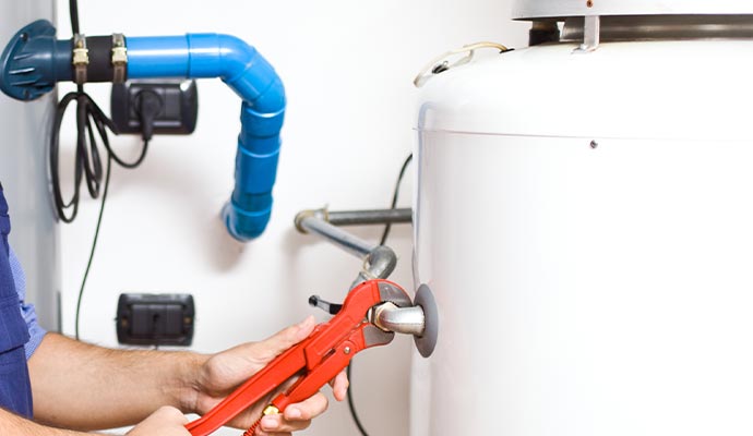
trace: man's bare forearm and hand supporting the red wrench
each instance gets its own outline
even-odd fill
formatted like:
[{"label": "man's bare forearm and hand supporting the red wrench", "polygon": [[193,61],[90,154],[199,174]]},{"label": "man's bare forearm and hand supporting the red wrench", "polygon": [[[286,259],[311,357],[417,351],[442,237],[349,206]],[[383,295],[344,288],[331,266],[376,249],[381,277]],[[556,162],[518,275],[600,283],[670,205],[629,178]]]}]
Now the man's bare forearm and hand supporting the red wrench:
[{"label": "man's bare forearm and hand supporting the red wrench", "polygon": [[[177,425],[175,410],[153,412],[162,405],[172,405],[184,413],[208,412],[275,356],[306,339],[313,328],[314,320],[310,317],[265,341],[238,346],[215,355],[107,350],[48,334],[29,360],[34,419],[40,424],[77,431],[141,423],[133,429],[141,433],[132,436],[187,435],[180,428],[184,420]],[[348,386],[345,374],[339,374],[332,385],[335,398],[343,400]],[[276,393],[262,399],[230,424],[250,427]],[[71,398],[76,401],[70,401]],[[290,404],[282,415],[265,416],[260,429],[265,434],[289,434],[308,427],[311,419],[326,408],[326,398],[318,393]],[[97,413],[92,413],[93,410]],[[171,416],[176,420],[170,420]],[[178,433],[147,431],[152,425],[162,425],[164,419],[167,428]]]}]

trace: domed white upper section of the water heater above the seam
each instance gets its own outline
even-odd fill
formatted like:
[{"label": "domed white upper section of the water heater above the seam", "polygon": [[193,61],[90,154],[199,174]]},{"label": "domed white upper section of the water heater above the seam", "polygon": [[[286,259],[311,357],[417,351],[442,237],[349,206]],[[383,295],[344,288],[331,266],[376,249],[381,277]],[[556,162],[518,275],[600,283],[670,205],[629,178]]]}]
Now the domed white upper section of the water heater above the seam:
[{"label": "domed white upper section of the water heater above the seam", "polygon": [[588,53],[577,48],[525,48],[432,76],[419,94],[417,129],[554,137],[753,137],[753,86],[744,86],[753,76],[753,40],[606,43]]}]

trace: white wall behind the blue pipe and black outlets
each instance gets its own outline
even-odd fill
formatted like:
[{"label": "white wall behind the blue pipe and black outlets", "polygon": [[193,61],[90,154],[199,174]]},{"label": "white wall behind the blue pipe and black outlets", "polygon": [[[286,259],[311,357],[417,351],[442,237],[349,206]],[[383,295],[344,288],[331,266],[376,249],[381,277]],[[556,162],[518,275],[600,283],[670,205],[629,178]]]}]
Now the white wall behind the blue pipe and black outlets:
[{"label": "white wall behind the blue pipe and black outlets", "polygon": [[[58,3],[59,35],[68,36],[68,1]],[[204,352],[261,339],[314,313],[307,305],[311,293],[344,298],[360,263],[298,234],[296,213],[326,204],[387,206],[399,165],[414,146],[414,75],[434,56],[464,44],[523,46],[527,28],[510,21],[509,0],[80,0],[80,14],[88,35],[232,34],[254,45],[285,82],[289,106],[275,206],[259,240],[237,243],[218,219],[232,189],[240,107],[219,81],[199,85],[192,136],[156,137],[143,167],[118,168],[112,177],[82,307],[83,338],[117,344],[113,316],[121,292],[190,292],[198,305],[194,349]],[[108,106],[108,86],[89,90]],[[69,117],[68,138],[72,121]],[[133,138],[116,144],[125,152],[138,148]],[[409,206],[410,174],[403,190],[401,205]],[[82,202],[80,218],[62,228],[69,334],[97,206]],[[369,239],[380,232],[358,230]],[[392,278],[413,292],[409,228],[394,229],[390,244],[399,255]],[[411,347],[411,339],[402,337],[356,359],[355,398],[372,435],[408,433]],[[307,434],[352,435],[356,428],[347,405],[333,404]]]}]

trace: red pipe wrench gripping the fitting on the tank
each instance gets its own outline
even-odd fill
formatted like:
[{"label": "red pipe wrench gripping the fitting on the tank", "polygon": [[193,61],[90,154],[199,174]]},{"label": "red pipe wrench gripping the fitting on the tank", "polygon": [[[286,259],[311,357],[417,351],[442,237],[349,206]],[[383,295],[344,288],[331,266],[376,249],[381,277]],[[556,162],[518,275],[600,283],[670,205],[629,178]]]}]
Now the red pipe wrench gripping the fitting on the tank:
[{"label": "red pipe wrench gripping the fitting on the tank", "polygon": [[[368,280],[354,288],[337,315],[318,325],[308,338],[275,358],[204,416],[186,424],[186,428],[193,436],[207,436],[296,374],[301,375],[272,400],[264,414],[282,413],[288,404],[316,393],[356,353],[392,342],[394,332],[369,320],[372,308],[387,302],[398,307],[413,305],[405,290],[387,280]],[[247,434],[253,434],[258,424],[259,421]]]}]

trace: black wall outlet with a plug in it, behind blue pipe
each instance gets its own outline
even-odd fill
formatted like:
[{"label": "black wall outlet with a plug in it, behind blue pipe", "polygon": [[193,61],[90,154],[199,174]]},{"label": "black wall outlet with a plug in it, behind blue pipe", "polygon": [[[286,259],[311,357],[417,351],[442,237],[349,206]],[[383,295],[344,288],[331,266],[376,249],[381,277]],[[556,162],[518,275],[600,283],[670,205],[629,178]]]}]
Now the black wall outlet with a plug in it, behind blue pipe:
[{"label": "black wall outlet with a plug in it, behind blue pipe", "polygon": [[193,133],[199,117],[199,93],[196,82],[189,80],[143,80],[112,85],[110,111],[118,133],[142,133],[139,112],[144,93],[154,93],[160,102],[152,123],[155,134]]}]

